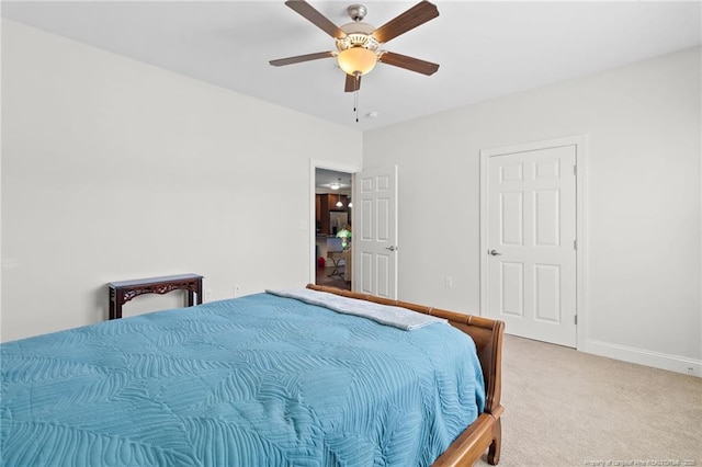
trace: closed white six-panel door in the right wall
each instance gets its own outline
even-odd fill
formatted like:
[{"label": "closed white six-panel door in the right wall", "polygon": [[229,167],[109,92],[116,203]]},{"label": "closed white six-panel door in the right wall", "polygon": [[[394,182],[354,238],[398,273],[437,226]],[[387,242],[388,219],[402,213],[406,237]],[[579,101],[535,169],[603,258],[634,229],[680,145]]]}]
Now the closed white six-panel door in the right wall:
[{"label": "closed white six-panel door in the right wall", "polygon": [[510,334],[575,348],[576,146],[486,159],[487,315]]}]

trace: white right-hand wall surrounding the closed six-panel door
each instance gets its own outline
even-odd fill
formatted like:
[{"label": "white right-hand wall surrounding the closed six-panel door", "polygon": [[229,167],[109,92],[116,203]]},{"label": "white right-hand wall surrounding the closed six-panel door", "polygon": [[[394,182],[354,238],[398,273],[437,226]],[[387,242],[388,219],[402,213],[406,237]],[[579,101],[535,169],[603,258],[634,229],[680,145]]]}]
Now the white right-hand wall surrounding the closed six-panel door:
[{"label": "white right-hand wall surrounding the closed six-panel door", "polygon": [[479,150],[586,134],[588,342],[579,348],[699,375],[700,55],[366,132],[364,167],[399,166],[400,298],[479,312]]}]

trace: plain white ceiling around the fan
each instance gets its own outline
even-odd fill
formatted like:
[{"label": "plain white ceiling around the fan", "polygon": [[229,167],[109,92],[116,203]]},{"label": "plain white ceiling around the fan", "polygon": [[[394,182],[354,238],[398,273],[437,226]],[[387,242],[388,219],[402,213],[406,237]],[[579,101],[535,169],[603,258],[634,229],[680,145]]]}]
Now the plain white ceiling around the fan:
[{"label": "plain white ceiling around the fan", "polygon": [[[380,26],[417,1],[365,1]],[[309,3],[337,25],[351,1]],[[380,64],[363,77],[360,122],[321,30],[280,1],[2,1],[2,16],[366,130],[702,43],[700,1],[435,1],[440,16],[382,48],[441,65],[426,77]],[[376,118],[367,116],[377,112]]]}]

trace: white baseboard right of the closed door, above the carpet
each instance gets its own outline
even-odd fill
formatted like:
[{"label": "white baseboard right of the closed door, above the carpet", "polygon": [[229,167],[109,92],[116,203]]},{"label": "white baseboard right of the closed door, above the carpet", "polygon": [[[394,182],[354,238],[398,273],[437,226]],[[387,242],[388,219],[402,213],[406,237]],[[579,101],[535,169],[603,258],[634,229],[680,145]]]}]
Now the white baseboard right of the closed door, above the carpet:
[{"label": "white baseboard right of the closed door, above the carpet", "polygon": [[702,377],[702,360],[588,340],[585,352],[654,368]]}]

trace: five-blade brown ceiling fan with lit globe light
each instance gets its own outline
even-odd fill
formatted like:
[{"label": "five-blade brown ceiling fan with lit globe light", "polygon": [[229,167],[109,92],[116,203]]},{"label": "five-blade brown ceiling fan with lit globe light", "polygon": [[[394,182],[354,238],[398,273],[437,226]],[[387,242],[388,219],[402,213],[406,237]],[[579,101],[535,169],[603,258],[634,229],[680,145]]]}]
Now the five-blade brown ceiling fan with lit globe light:
[{"label": "five-blade brown ceiling fan with lit globe light", "polygon": [[271,60],[270,64],[274,67],[337,57],[339,67],[347,73],[346,92],[358,91],[361,88],[361,76],[371,71],[378,61],[428,76],[439,69],[439,65],[431,61],[380,49],[382,44],[439,16],[437,5],[427,0],[377,29],[363,22],[367,9],[362,4],[352,4],[347,9],[353,22],[342,26],[333,24],[305,0],[287,0],[285,4],[333,37],[337,50]]}]

